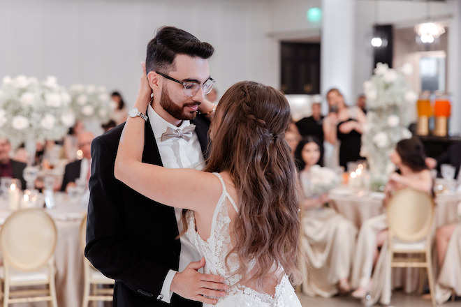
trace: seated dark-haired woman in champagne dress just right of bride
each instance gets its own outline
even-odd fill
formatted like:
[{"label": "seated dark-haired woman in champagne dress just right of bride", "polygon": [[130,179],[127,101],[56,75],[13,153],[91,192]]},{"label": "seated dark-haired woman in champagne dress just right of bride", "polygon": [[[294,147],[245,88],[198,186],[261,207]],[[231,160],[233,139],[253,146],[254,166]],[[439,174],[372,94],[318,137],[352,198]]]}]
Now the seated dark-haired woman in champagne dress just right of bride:
[{"label": "seated dark-haired woman in champagne dress just right of bride", "polygon": [[295,151],[304,197],[300,197],[302,225],[301,249],[302,292],[315,297],[332,297],[349,292],[349,274],[357,229],[351,221],[334,209],[324,207],[328,195],[312,195],[309,191],[310,169],[321,158],[320,141],[314,136],[302,139]]}]

